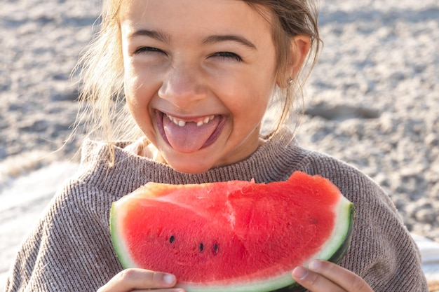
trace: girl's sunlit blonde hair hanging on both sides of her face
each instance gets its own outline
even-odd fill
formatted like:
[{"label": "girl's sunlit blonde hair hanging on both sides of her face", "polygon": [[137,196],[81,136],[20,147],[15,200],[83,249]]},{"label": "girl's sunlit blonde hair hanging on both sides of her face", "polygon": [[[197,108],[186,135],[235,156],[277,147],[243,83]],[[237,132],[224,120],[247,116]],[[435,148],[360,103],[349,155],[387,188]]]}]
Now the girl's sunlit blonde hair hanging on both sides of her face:
[{"label": "girl's sunlit blonde hair hanging on both sides of her face", "polygon": [[[311,0],[242,1],[261,15],[264,15],[264,11],[272,13],[271,26],[277,50],[278,76],[288,79],[285,75],[286,69],[294,57],[290,53],[292,37],[305,35],[311,38],[311,50],[306,57],[306,65],[302,66],[297,76],[290,76],[292,82],[285,88],[276,89],[271,101],[275,105],[275,116],[278,117],[276,122],[269,122],[275,125],[268,130],[268,137],[272,137],[283,124],[288,123],[292,117],[297,117],[294,114],[296,97],[303,96],[304,83],[316,64],[320,51],[318,9]],[[123,0],[103,0],[100,30],[76,67],[81,85],[80,111],[76,126],[85,124],[88,137],[104,139],[109,144],[137,139],[142,135],[123,97],[123,55],[119,19],[122,3]],[[278,111],[281,111],[281,115]],[[269,114],[266,116],[273,117]],[[109,155],[114,162],[114,151],[110,151]]]}]

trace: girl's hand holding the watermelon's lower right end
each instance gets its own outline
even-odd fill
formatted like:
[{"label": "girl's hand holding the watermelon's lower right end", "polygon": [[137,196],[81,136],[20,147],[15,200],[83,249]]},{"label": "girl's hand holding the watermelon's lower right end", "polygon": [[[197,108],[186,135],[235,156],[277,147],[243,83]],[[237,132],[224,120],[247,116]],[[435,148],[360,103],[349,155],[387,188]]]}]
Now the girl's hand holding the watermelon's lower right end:
[{"label": "girl's hand holding the watermelon's lower right end", "polygon": [[325,260],[313,260],[308,269],[296,267],[292,277],[313,292],[373,292],[360,276]]}]

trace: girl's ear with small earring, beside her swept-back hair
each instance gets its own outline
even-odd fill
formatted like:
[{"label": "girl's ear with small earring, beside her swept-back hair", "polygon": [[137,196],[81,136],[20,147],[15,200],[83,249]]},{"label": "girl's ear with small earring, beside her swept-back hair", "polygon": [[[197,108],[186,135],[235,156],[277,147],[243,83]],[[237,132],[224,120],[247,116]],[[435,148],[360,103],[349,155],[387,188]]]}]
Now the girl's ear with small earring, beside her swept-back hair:
[{"label": "girl's ear with small earring, beside her swept-back hair", "polygon": [[288,79],[295,79],[300,68],[304,64],[306,55],[311,48],[311,38],[309,36],[298,35],[291,39],[290,43],[290,64],[285,68],[286,76],[279,76],[282,80],[278,80],[278,85],[282,88],[288,86]]}]

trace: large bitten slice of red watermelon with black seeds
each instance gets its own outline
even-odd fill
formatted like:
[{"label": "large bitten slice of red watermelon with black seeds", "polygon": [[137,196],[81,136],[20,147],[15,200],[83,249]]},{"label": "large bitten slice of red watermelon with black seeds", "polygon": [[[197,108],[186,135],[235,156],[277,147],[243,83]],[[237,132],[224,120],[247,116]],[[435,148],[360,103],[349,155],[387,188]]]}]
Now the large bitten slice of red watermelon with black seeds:
[{"label": "large bitten slice of red watermelon with black seeds", "polygon": [[319,258],[339,263],[354,208],[321,176],[192,185],[147,183],[112,205],[123,267],[170,272],[197,291],[302,291],[291,276]]}]

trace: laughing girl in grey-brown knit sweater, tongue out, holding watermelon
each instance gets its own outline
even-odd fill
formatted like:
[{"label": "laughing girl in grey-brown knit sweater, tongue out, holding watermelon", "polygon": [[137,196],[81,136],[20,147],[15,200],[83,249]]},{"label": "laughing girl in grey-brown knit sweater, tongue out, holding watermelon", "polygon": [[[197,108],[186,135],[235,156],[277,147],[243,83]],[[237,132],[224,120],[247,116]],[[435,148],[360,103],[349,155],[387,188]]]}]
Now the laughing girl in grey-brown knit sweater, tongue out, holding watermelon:
[{"label": "laughing girl in grey-brown knit sweater, tongue out, holding watermelon", "polygon": [[[300,148],[281,126],[306,63],[316,62],[316,15],[309,0],[104,1],[82,80],[91,122],[100,123],[93,130],[106,139],[83,145],[79,172],[23,244],[7,291],[181,291],[172,274],[122,270],[109,237],[111,203],[148,181],[269,182],[296,170],[327,177],[357,209],[341,265],[296,267],[299,284],[313,292],[426,291],[417,249],[383,190]],[[265,113],[278,105],[264,136]]]}]

